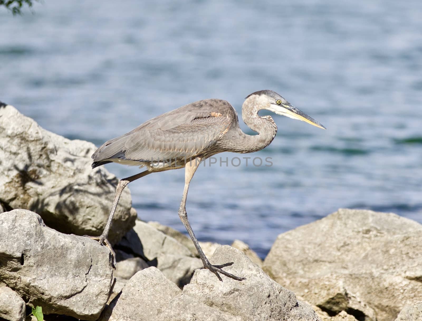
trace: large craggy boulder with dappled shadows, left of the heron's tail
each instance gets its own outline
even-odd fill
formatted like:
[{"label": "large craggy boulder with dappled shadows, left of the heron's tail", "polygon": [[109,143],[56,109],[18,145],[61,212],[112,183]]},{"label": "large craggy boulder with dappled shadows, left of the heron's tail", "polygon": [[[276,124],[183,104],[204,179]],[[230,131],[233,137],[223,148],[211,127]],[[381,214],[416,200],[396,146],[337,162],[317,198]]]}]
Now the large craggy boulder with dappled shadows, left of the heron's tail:
[{"label": "large craggy boulder with dappled shadows, left of the heron's tail", "polygon": [[[30,209],[63,233],[100,235],[114,199],[117,178],[91,169],[94,144],[70,140],[41,128],[12,106],[0,108],[0,201]],[[124,189],[113,218],[114,244],[135,222]]]}]

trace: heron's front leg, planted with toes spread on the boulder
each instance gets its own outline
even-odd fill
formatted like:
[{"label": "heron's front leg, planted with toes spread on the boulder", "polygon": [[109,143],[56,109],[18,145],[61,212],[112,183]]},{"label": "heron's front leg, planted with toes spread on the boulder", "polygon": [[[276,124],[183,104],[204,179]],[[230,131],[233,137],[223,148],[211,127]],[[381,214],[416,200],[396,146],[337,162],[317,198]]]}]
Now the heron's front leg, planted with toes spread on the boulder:
[{"label": "heron's front leg, planted with toes spread on the boulder", "polygon": [[186,212],[186,199],[187,199],[187,192],[189,189],[189,183],[192,180],[193,174],[195,174],[196,169],[198,168],[199,164],[201,162],[200,158],[196,158],[192,161],[190,161],[189,163],[186,164],[185,167],[185,185],[184,185],[184,190],[183,190],[183,196],[182,196],[182,201],[180,203],[180,207],[179,207],[179,217],[183,223],[183,225],[185,226],[187,232],[189,233],[190,238],[192,239],[193,244],[195,245],[195,248],[197,249],[199,256],[202,260],[202,263],[204,264],[203,267],[201,267],[200,269],[209,269],[211,272],[213,272],[220,281],[222,281],[219,273],[222,273],[223,275],[226,275],[227,277],[231,277],[232,279],[241,281],[241,280],[246,280],[246,278],[244,277],[237,277],[233,274],[230,274],[226,271],[224,271],[222,268],[223,267],[227,267],[229,265],[232,265],[233,262],[230,263],[226,263],[226,264],[221,264],[221,265],[212,265],[209,261],[208,258],[205,256],[203,250],[201,249],[198,240],[195,237],[195,234],[192,231],[192,227],[190,226],[189,220],[187,219],[187,212]]}]

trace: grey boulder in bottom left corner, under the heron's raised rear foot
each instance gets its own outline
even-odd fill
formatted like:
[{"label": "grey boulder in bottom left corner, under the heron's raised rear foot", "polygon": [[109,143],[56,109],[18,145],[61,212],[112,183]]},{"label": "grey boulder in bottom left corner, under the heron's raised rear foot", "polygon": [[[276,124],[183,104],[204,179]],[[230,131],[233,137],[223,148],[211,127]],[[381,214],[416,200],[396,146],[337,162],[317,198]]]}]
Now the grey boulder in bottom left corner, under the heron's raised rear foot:
[{"label": "grey boulder in bottom left corner, under the heron's raised rear foot", "polygon": [[0,214],[0,262],[2,283],[45,314],[96,320],[106,305],[112,280],[108,248],[55,231],[34,212]]}]

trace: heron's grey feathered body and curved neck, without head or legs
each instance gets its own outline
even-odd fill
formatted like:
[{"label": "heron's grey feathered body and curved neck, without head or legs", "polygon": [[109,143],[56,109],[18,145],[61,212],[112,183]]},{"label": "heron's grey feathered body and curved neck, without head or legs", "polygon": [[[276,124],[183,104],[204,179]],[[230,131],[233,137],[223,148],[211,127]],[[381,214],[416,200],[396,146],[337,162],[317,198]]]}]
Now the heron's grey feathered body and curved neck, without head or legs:
[{"label": "heron's grey feathered body and curved neck, without head or legs", "polygon": [[[246,107],[246,108],[245,108]],[[144,122],[123,136],[104,143],[92,155],[92,168],[115,161],[138,162],[147,166],[151,161],[184,158],[207,158],[219,152],[254,152],[271,143],[277,133],[272,117],[259,117],[259,106],[243,107],[243,120],[260,133],[259,137],[243,133],[238,115],[227,101],[206,99],[190,103]]]}]

